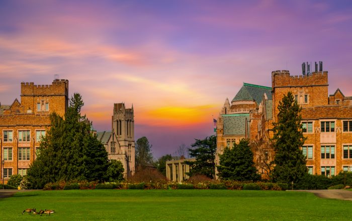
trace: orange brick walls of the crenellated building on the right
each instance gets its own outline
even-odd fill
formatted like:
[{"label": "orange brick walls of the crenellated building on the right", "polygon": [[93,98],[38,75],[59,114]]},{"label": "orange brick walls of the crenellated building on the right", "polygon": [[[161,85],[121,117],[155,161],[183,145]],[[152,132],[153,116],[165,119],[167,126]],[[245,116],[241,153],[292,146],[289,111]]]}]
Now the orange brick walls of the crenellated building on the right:
[{"label": "orange brick walls of the crenellated building on the right", "polygon": [[[352,97],[345,97],[339,89],[328,95],[327,72],[291,76],[289,71],[284,70],[272,72],[271,95],[258,92],[257,96],[262,96],[262,99],[256,108],[248,110],[248,116],[239,125],[247,131],[242,137],[257,144],[255,148],[252,145],[252,150],[259,172],[268,173],[265,167],[268,169],[268,163],[274,157],[270,147],[270,138],[274,135],[273,122],[277,122],[279,101],[289,91],[302,107],[303,132],[307,137],[302,151],[309,173],[330,176],[340,171],[352,171]],[[224,108],[225,105],[220,116],[226,116]],[[225,135],[226,123],[222,120],[225,118],[219,117],[219,137]],[[224,142],[218,141],[217,145],[221,150]]]}]

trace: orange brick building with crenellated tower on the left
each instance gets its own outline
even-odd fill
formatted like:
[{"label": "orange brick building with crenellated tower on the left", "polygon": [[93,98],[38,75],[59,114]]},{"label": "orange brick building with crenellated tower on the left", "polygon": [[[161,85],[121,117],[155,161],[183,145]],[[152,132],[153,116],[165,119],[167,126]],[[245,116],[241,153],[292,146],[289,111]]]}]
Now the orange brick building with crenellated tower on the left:
[{"label": "orange brick building with crenellated tower on the left", "polygon": [[68,108],[68,80],[51,85],[21,83],[21,102],[0,104],[1,179],[25,175],[36,158],[41,136],[50,126],[50,114],[64,116]]}]

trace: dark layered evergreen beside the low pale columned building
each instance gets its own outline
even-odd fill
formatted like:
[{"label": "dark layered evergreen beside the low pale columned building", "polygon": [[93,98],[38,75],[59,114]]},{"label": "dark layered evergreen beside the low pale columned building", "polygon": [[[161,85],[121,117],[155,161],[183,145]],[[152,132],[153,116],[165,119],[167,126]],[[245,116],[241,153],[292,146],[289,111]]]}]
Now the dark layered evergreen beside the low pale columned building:
[{"label": "dark layered evergreen beside the low pale columned building", "polygon": [[196,142],[191,146],[193,148],[188,149],[188,151],[191,157],[196,158],[196,161],[186,161],[190,165],[190,172],[186,174],[189,176],[205,175],[214,178],[216,136],[206,137],[204,140],[196,139]]}]

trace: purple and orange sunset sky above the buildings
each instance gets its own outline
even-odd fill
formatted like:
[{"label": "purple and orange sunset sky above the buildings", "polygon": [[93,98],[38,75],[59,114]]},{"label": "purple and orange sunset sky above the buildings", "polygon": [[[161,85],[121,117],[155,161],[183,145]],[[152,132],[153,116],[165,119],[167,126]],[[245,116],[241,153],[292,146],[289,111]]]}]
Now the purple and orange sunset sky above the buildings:
[{"label": "purple and orange sunset sky above the buildings", "polygon": [[271,87],[272,71],[315,61],[329,94],[352,96],[352,1],[0,0],[0,102],[57,74],[97,131],[133,104],[155,158],[213,135],[244,82]]}]

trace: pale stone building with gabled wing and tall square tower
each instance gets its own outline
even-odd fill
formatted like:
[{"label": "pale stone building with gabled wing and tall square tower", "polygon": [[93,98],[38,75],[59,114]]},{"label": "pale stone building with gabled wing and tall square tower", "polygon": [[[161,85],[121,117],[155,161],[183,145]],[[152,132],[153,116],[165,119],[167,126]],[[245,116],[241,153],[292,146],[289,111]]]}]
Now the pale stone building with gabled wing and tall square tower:
[{"label": "pale stone building with gabled wing and tall square tower", "polygon": [[133,106],[126,109],[124,103],[114,104],[112,131],[98,132],[98,139],[104,144],[109,159],[122,162],[124,176],[135,173],[135,141]]}]

